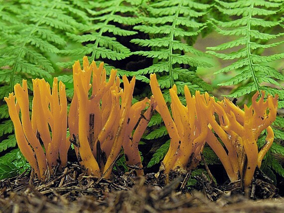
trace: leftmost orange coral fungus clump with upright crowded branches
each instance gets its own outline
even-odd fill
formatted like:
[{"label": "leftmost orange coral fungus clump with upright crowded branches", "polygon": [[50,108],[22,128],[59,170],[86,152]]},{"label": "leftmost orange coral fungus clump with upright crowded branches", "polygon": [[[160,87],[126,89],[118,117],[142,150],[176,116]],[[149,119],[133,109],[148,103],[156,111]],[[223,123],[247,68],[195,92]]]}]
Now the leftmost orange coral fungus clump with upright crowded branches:
[{"label": "leftmost orange coral fungus clump with upright crowded branches", "polygon": [[[52,170],[53,166],[57,164],[59,152],[61,165],[65,166],[67,163],[67,150],[70,145],[70,142],[66,141],[67,100],[64,84],[59,83],[60,101],[57,87],[58,82],[54,78],[51,94],[49,84],[43,79],[33,80],[34,97],[31,119],[25,80],[22,81],[22,87],[19,84],[15,85],[15,96],[9,94],[9,97],[5,98],[10,117],[14,123],[17,144],[41,179],[45,178],[47,166]],[[18,117],[19,111],[21,112],[21,120]],[[49,127],[51,128],[52,138]],[[37,132],[43,141],[45,154],[37,137]]]}]

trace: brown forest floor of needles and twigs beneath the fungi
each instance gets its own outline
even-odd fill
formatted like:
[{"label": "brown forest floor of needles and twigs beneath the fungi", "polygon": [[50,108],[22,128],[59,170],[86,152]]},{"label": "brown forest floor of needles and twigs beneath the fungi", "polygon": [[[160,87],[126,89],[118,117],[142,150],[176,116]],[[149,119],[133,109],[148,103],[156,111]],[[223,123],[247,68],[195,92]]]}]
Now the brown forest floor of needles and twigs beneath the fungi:
[{"label": "brown forest floor of needles and twigs beneath the fungi", "polygon": [[88,176],[77,164],[46,182],[32,177],[29,173],[0,181],[0,213],[284,212],[278,189],[257,172],[249,196],[243,195],[240,182],[216,186],[205,175],[196,177],[194,189],[186,187],[186,175],[165,184],[162,175],[156,179],[154,173],[135,177],[116,171],[110,181]]}]

